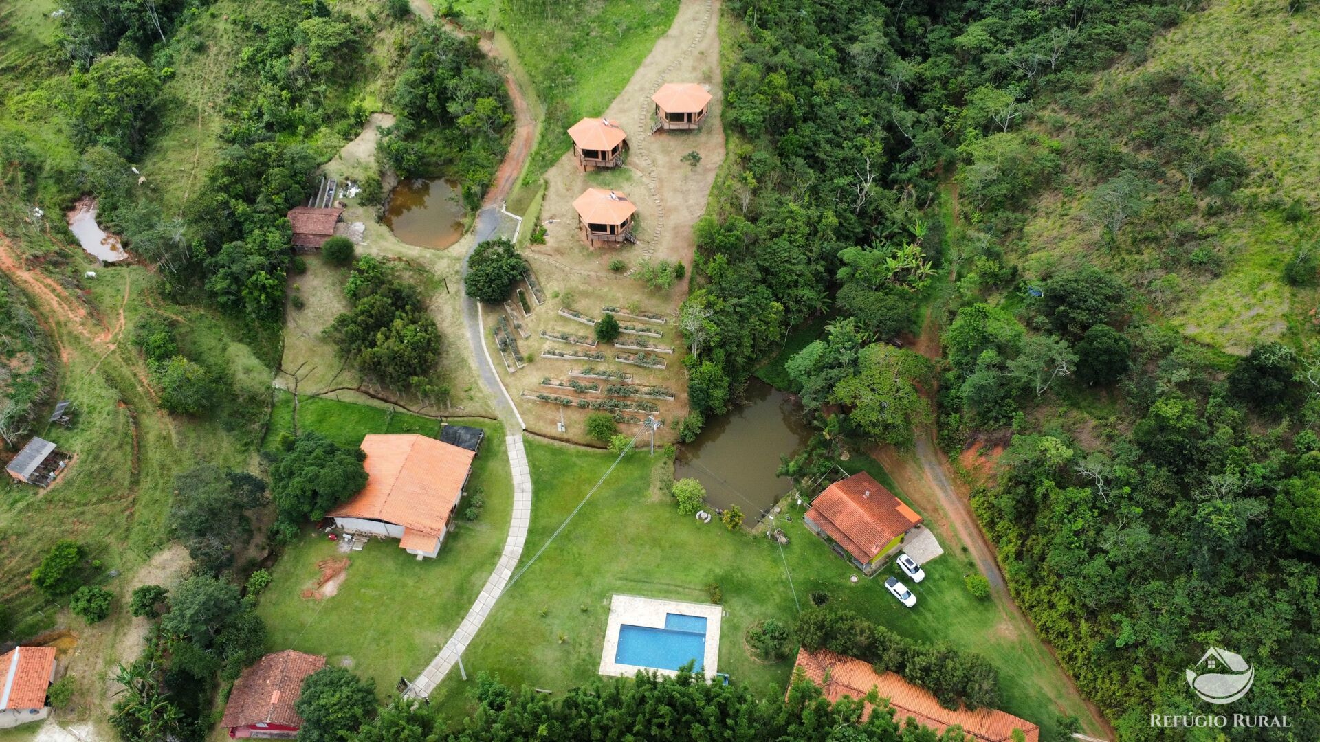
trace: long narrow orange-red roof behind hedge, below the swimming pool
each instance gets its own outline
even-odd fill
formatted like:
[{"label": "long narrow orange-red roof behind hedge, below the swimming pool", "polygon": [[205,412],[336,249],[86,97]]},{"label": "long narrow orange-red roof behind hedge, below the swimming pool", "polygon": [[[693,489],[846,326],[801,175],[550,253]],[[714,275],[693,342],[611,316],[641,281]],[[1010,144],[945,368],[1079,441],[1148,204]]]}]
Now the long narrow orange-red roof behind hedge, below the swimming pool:
[{"label": "long narrow orange-red roof behind hedge, below the swimming pool", "polygon": [[[997,709],[949,710],[929,691],[912,685],[896,673],[878,673],[870,663],[857,658],[829,650],[813,652],[803,648],[797,651],[796,667],[803,668],[803,673],[820,685],[832,702],[845,696],[861,698],[875,688],[882,698],[888,698],[895,710],[894,718],[899,722],[912,718],[936,733],[958,725],[978,742],[1007,742],[1012,739],[1014,729],[1020,729],[1027,742],[1040,741],[1040,727],[1027,720]],[[867,716],[871,708],[867,705]]]}]

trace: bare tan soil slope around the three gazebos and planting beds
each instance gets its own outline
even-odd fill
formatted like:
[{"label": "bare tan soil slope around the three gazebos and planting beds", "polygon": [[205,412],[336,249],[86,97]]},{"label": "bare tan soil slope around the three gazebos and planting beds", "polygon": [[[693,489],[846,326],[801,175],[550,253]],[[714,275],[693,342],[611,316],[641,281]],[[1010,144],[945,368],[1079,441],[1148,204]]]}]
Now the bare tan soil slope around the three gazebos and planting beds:
[{"label": "bare tan soil slope around the three gazebos and planting beds", "polygon": [[[672,391],[675,393],[672,401],[647,400],[659,407],[655,415],[665,420],[665,426],[657,433],[659,440],[673,440],[678,419],[688,412],[686,378],[682,368],[684,343],[677,329],[677,312],[688,294],[688,281],[692,275],[692,257],[696,251],[692,228],[705,213],[715,173],[725,158],[718,18],[719,4],[715,1],[680,5],[673,25],[656,42],[619,96],[606,111],[594,112],[618,121],[627,132],[628,154],[624,166],[585,173],[578,168],[573,153],[566,152],[545,174],[545,193],[540,211],[540,220],[546,227],[545,244],[528,244],[524,255],[544,288],[546,301],[540,306],[533,305],[528,317],[523,316],[516,297],[511,302],[512,317],[500,308],[487,308],[484,312],[487,343],[494,345],[491,333],[502,316],[506,317],[506,322],[517,321],[529,334],[528,338],[523,338],[515,333],[519,350],[525,358],[524,368],[510,374],[504,364],[495,359],[496,372],[513,399],[519,400],[519,411],[528,430],[557,438],[586,441],[583,420],[591,411],[578,407],[577,399],[595,400],[599,395],[557,395],[574,400],[573,404],[562,407],[521,397],[523,392],[544,393],[546,389],[540,386],[543,378],[562,378],[570,368],[582,366],[626,370],[636,376],[638,384]],[[651,94],[665,82],[697,82],[710,87],[714,99],[701,129],[651,133]],[[700,156],[696,165],[681,161],[690,152]],[[636,205],[638,244],[589,247],[585,243],[578,231],[573,201],[589,186],[616,190]],[[523,228],[531,230],[532,224],[525,223]],[[630,275],[647,259],[681,263],[686,275],[669,290],[648,289]],[[610,264],[615,260],[622,260],[626,268],[611,271]],[[531,296],[531,292],[528,294]],[[568,351],[573,347],[545,339],[541,331],[590,333],[583,325],[558,316],[561,306],[597,320],[605,306],[653,312],[668,317],[668,323],[655,326],[663,333],[663,338],[645,338],[659,346],[673,349],[672,354],[659,355],[667,362],[667,368],[620,364],[614,356],[623,351],[609,343],[595,349],[605,354],[602,360],[541,358],[543,350]],[[627,318],[620,318],[620,322],[645,325]],[[635,335],[624,334],[618,342],[627,345],[635,339]],[[491,353],[494,356],[496,349],[492,347]],[[627,415],[645,417],[645,413]],[[558,430],[561,417],[566,428],[564,432]],[[622,429],[635,433],[640,428],[626,424]]]}]

